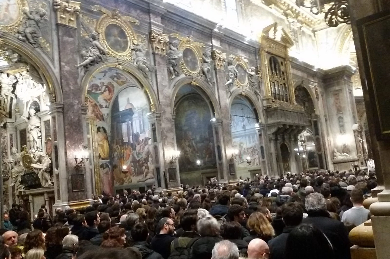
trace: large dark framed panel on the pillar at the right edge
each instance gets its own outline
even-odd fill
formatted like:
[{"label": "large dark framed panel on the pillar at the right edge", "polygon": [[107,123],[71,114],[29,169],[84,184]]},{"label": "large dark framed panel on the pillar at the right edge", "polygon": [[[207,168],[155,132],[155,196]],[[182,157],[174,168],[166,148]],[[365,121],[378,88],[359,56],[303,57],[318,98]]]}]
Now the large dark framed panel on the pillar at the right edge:
[{"label": "large dark framed panel on the pillar at the right edge", "polygon": [[390,12],[379,12],[356,23],[376,137],[378,140],[389,140]]}]

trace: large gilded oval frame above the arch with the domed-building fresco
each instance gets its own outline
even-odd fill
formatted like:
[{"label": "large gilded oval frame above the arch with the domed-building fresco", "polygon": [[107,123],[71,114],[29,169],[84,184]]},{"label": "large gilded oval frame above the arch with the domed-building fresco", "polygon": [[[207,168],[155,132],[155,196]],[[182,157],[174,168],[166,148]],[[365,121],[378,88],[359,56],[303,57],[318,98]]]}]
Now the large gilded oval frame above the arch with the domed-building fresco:
[{"label": "large gilded oval frame above the arch with the domed-building fresco", "polygon": [[[106,39],[106,28],[108,25],[115,24],[119,27],[121,27],[122,30],[126,33],[127,40],[128,40],[128,48],[123,53],[119,53],[115,50],[113,50],[110,45],[107,42]],[[108,14],[103,14],[103,16],[100,17],[99,21],[96,23],[96,32],[99,33],[101,43],[106,47],[108,56],[115,57],[115,58],[121,58],[127,61],[133,61],[133,55],[132,55],[132,49],[134,44],[137,44],[137,37],[133,31],[133,28],[127,21],[122,21],[120,19],[114,19],[111,18]]]}]

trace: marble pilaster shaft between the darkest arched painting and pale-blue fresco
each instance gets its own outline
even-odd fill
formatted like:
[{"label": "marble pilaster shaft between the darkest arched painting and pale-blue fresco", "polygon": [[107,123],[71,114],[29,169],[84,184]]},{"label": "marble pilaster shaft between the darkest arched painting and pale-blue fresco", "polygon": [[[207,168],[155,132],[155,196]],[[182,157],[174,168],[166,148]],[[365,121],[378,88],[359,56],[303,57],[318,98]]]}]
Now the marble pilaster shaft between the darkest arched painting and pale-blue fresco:
[{"label": "marble pilaster shaft between the darkest arched painting and pale-blue fresco", "polygon": [[[233,149],[233,140],[232,140],[232,130],[230,127],[230,117],[229,117],[229,103],[228,103],[228,93],[227,88],[225,86],[226,83],[226,75],[225,70],[223,70],[222,66],[215,66],[215,74],[216,74],[216,91],[217,96],[219,98],[219,103],[221,106],[221,110],[225,111],[222,114],[216,114],[215,117],[219,120],[221,120],[221,137],[222,137],[222,143],[224,145],[224,149],[221,150],[222,156],[224,157],[224,162],[222,164],[222,170],[223,170],[223,180],[229,181],[237,179],[236,175],[236,165],[234,166],[234,173],[229,173],[229,163],[227,163],[227,157],[229,156],[229,153],[231,153],[231,150]],[[229,152],[230,150],[230,152]],[[231,168],[232,170],[232,168]]]}]

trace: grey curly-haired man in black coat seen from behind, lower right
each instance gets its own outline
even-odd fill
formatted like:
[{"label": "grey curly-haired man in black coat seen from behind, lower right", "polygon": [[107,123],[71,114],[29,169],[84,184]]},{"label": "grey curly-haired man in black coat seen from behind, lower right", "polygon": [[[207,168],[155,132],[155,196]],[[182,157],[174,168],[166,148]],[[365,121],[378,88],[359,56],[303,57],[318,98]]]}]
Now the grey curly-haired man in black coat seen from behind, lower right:
[{"label": "grey curly-haired man in black coat seen from behind, lower right", "polygon": [[332,243],[337,259],[351,259],[347,229],[340,221],[330,218],[326,211],[326,201],[322,194],[311,193],[306,197],[305,207],[308,217],[302,223],[320,229]]}]

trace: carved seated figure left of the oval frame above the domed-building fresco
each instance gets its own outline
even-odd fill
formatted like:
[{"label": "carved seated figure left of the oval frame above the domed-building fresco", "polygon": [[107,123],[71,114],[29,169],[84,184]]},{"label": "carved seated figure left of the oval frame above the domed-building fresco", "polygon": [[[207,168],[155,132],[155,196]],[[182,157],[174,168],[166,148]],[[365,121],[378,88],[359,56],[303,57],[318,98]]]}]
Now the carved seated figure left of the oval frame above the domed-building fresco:
[{"label": "carved seated figure left of the oval frame above the domed-building fresco", "polygon": [[82,56],[84,61],[77,66],[92,66],[96,65],[100,61],[103,60],[103,56],[107,55],[106,49],[99,42],[98,36],[96,32],[91,33],[90,35],[91,46],[89,49],[84,49],[82,51]]}]

